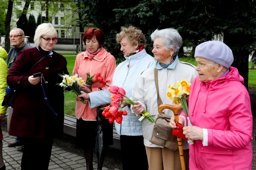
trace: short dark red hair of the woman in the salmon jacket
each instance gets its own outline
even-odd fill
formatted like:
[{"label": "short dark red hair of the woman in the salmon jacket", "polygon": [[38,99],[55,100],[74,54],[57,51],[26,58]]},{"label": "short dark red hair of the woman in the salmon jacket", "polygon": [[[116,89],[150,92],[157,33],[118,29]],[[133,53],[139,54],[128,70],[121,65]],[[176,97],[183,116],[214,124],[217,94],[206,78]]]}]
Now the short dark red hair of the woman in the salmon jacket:
[{"label": "short dark red hair of the woman in the salmon jacket", "polygon": [[99,42],[100,46],[102,46],[105,41],[105,34],[103,33],[102,30],[96,29],[96,28],[90,28],[85,30],[85,34],[83,36],[83,42],[85,43],[86,39],[91,40],[94,36],[96,40]]}]

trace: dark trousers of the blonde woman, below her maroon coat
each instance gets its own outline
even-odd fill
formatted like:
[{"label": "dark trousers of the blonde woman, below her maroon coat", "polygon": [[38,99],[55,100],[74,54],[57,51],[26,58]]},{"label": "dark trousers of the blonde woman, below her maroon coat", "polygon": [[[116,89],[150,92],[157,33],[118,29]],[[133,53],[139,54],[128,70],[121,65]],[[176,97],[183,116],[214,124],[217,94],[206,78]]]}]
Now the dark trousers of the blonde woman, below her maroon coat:
[{"label": "dark trousers of the blonde woman, below her maroon coat", "polygon": [[51,157],[53,138],[23,138],[22,170],[47,170]]}]

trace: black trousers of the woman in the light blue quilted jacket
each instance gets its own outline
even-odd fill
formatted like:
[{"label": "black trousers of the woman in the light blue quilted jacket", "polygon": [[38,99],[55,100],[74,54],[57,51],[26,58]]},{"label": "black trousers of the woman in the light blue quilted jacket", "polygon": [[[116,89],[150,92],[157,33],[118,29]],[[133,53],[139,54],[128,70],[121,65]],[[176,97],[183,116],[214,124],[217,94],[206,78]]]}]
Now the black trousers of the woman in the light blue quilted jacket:
[{"label": "black trousers of the woman in the light blue quilted jacket", "polygon": [[120,136],[123,170],[148,170],[143,136]]}]

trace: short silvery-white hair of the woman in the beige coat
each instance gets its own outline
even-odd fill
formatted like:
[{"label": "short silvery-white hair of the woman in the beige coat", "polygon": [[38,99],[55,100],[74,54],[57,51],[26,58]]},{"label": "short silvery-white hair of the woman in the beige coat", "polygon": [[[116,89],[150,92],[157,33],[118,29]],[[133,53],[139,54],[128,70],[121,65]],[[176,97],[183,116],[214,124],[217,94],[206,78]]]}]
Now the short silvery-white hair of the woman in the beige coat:
[{"label": "short silvery-white hair of the woman in the beige coat", "polygon": [[182,46],[182,37],[179,35],[177,30],[173,28],[162,30],[156,29],[151,34],[151,40],[155,41],[156,38],[161,38],[161,43],[166,47],[167,50],[171,50],[173,47],[175,47],[175,51],[173,53],[174,56],[178,54],[179,49]]}]

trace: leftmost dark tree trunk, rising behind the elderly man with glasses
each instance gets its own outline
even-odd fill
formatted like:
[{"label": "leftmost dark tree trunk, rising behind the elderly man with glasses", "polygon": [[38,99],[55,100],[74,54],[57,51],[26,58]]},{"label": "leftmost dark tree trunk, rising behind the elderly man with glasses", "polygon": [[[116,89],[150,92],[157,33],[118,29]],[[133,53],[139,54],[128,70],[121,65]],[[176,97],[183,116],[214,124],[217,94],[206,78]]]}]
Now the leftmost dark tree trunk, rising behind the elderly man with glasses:
[{"label": "leftmost dark tree trunk, rising behind the elderly man with glasses", "polygon": [[12,7],[13,7],[13,1],[9,0],[8,2],[8,9],[6,13],[6,19],[4,23],[4,28],[5,28],[5,44],[4,44],[4,49],[9,52],[10,51],[10,39],[9,39],[9,33],[10,33],[10,23],[11,23],[11,18],[12,18]]}]

